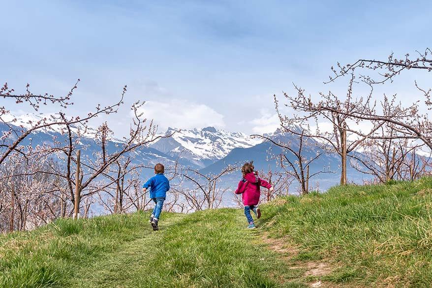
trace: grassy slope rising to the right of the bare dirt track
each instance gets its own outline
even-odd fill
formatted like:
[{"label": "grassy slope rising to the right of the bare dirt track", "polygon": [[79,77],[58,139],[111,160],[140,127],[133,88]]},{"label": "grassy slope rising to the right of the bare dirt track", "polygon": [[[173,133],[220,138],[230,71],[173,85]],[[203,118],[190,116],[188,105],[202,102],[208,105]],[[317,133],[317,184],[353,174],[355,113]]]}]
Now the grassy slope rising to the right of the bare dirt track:
[{"label": "grassy slope rising to the right of the bare dirt track", "polygon": [[296,244],[299,260],[332,261],[323,280],[431,287],[431,188],[423,178],[286,197],[262,208],[261,224]]}]

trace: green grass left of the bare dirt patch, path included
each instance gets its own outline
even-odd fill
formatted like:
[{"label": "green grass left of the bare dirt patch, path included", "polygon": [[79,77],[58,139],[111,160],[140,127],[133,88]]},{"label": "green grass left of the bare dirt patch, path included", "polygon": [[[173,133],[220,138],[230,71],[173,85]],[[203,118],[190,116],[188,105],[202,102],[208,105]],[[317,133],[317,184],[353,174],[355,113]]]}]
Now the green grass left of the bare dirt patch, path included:
[{"label": "green grass left of the bare dirt patch, path included", "polygon": [[238,209],[164,213],[156,232],[148,216],[64,219],[2,236],[0,287],[306,287]]}]

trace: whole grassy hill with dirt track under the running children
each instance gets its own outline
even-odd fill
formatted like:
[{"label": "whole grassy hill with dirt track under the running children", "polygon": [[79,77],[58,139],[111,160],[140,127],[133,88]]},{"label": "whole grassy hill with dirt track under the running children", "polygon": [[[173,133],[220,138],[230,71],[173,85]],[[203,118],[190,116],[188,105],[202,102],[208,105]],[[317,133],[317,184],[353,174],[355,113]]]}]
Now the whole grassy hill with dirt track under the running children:
[{"label": "whole grassy hill with dirt track under the running children", "polygon": [[431,287],[431,204],[423,178],[279,198],[255,230],[239,209],[61,219],[0,236],[0,287]]}]

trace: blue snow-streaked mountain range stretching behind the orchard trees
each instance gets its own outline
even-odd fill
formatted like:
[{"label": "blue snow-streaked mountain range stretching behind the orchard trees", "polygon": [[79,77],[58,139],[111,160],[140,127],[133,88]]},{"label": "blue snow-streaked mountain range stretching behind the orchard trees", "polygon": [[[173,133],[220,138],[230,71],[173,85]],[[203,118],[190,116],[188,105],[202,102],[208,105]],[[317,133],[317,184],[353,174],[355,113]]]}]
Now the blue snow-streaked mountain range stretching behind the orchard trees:
[{"label": "blue snow-streaked mountain range stretching behind the orchard trees", "polygon": [[[18,117],[18,121],[15,124],[26,127],[29,119],[34,121],[40,119],[40,117],[43,117],[43,115],[27,114]],[[7,130],[7,126],[0,122],[0,132]],[[27,137],[23,144],[35,146],[46,143],[54,145],[53,137],[57,138],[58,141],[62,141],[63,138],[65,140],[65,136],[61,132],[61,128],[38,130]],[[160,138],[148,147],[141,147],[135,152],[130,153],[129,157],[133,159],[134,163],[147,164],[149,166],[157,162],[172,165],[178,161],[182,166],[199,170],[203,174],[217,174],[227,164],[241,165],[250,160],[254,161],[257,170],[268,171],[271,169],[272,171],[277,171],[280,169],[276,160],[272,159],[272,155],[281,154],[283,152],[282,149],[270,141],[263,141],[261,137],[251,137],[242,132],[229,132],[214,127],[200,129],[168,128],[164,134],[172,134],[172,136]],[[93,152],[100,150],[95,135],[95,130],[88,130],[80,139],[81,145],[84,148],[82,153],[89,157],[93,155]],[[266,134],[266,137],[276,142],[288,143],[294,150],[298,148],[299,140],[297,136],[285,134],[277,130],[274,133]],[[107,149],[109,152],[118,149],[118,143],[121,141],[112,138],[108,143]],[[308,157],[313,157],[317,153],[320,153],[320,150],[320,145],[311,140],[304,152]],[[290,160],[295,160],[292,154],[285,154]],[[340,177],[338,173],[339,161],[339,156],[335,154],[323,154],[318,160],[314,161],[310,167],[311,173],[315,173],[323,167],[327,167],[334,173],[315,176],[314,179],[311,179],[312,186],[319,186],[320,190],[326,190],[338,184]],[[152,169],[147,170],[143,173],[143,177],[152,175]],[[224,176],[221,179],[222,182],[220,185],[233,189],[240,178],[241,173],[239,170],[239,172]],[[354,182],[361,182],[365,179],[363,174],[351,167],[348,169],[348,178]]]}]

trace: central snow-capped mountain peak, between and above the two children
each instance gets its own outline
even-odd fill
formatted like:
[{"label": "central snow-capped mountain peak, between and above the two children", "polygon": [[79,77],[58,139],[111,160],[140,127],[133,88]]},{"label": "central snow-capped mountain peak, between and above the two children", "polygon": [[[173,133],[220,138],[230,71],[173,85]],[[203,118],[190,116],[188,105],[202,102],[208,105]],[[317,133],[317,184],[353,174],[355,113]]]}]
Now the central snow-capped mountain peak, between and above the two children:
[{"label": "central snow-capped mountain peak, between and above the two children", "polygon": [[214,127],[180,130],[168,128],[166,135],[150,147],[172,157],[187,159],[205,167],[227,156],[234,148],[249,148],[262,142],[241,132],[228,132]]}]

